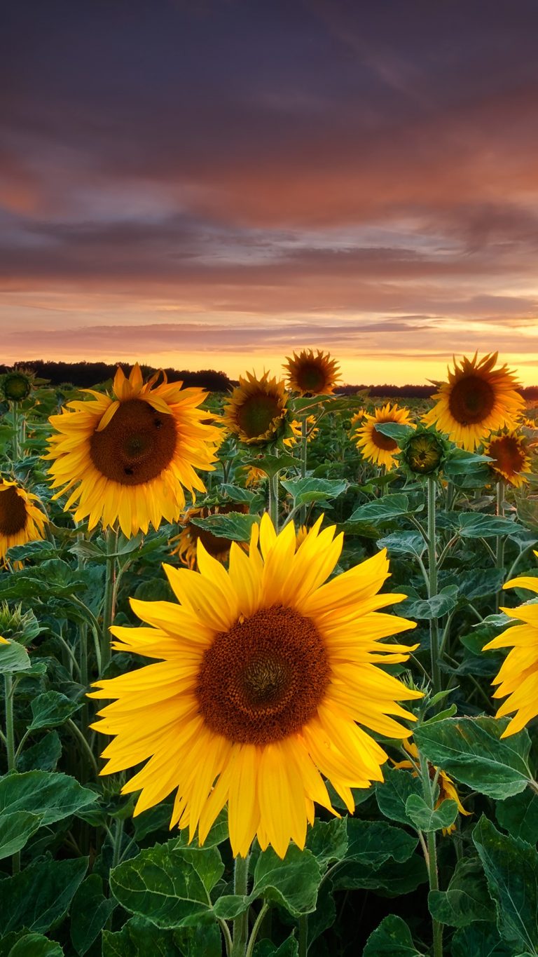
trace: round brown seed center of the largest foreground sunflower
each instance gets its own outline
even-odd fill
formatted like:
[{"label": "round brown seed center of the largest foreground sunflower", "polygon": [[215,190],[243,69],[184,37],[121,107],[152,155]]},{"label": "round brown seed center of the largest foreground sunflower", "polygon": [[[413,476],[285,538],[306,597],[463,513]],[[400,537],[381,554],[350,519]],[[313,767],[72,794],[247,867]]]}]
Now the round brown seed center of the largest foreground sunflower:
[{"label": "round brown seed center of the largest foreground sunflower", "polygon": [[269,745],[313,718],[329,678],[325,646],[312,620],[275,606],[216,635],[204,653],[197,695],[216,734]]}]

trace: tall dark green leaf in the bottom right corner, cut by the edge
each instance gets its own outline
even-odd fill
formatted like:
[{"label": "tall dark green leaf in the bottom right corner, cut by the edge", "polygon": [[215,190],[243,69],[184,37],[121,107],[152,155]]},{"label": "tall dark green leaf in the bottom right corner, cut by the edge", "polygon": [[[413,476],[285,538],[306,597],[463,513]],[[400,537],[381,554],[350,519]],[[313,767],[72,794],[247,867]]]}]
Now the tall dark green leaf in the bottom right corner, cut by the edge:
[{"label": "tall dark green leaf in the bottom right corner, cut by the edge", "polygon": [[[538,952],[538,855],[525,841],[502,835],[484,815],[473,831],[497,927],[514,953]],[[515,949],[517,948],[517,949]]]}]

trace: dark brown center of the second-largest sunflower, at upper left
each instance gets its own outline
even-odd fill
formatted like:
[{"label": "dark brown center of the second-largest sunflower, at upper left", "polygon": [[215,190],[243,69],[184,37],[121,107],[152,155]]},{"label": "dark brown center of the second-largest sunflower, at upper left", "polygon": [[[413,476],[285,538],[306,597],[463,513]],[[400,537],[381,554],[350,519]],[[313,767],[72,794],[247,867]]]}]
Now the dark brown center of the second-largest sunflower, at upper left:
[{"label": "dark brown center of the second-largest sunflower, at upper left", "polygon": [[173,415],[156,412],[148,402],[127,399],[102,432],[90,440],[90,456],[97,471],[121,485],[140,485],[156,479],[176,451]]}]

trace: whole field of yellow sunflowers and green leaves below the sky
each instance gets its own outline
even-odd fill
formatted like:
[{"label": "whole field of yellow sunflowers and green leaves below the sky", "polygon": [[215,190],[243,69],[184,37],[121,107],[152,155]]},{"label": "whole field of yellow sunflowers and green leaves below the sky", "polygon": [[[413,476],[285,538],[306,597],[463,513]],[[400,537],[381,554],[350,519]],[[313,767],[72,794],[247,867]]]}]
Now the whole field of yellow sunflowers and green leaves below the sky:
[{"label": "whole field of yellow sunflowers and green leaves below the sky", "polygon": [[0,378],[0,957],[538,955],[538,410]]}]

